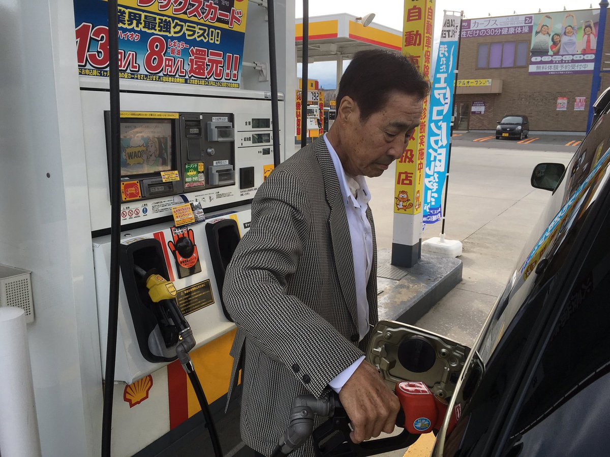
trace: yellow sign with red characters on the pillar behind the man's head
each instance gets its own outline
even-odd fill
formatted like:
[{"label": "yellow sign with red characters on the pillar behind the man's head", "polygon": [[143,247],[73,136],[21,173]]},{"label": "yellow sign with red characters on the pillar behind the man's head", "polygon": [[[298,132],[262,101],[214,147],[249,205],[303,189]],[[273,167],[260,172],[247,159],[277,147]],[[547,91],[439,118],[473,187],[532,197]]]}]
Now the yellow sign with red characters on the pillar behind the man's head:
[{"label": "yellow sign with red characters on the pillar behind the man's head", "polygon": [[[404,1],[403,55],[409,56],[425,77],[430,76],[433,19],[434,0]],[[420,126],[396,164],[395,213],[422,212],[427,117],[428,99],[425,99]]]}]

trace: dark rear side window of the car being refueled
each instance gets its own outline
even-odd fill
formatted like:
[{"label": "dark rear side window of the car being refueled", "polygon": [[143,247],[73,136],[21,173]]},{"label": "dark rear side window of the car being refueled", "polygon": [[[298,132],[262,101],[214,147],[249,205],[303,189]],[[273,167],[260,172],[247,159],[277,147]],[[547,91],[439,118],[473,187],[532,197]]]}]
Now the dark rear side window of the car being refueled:
[{"label": "dark rear side window of the car being refueled", "polygon": [[583,253],[586,261],[534,369],[503,455],[606,453],[610,442],[609,230],[606,216],[597,240]]}]

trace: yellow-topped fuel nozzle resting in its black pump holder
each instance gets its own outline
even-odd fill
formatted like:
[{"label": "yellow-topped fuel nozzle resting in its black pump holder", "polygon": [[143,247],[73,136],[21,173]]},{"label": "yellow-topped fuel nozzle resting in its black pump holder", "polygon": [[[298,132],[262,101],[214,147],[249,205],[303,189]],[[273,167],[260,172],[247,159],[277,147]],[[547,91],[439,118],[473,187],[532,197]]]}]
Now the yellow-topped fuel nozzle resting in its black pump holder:
[{"label": "yellow-topped fuel nozzle resting in its black pump holder", "polygon": [[165,279],[156,271],[151,270],[145,272],[142,268],[134,266],[134,271],[145,278],[148,296],[154,303],[159,303],[162,306],[165,314],[170,317],[176,330],[178,330],[178,343],[176,344],[176,355],[178,360],[184,367],[184,370],[189,373],[193,370],[193,364],[190,360],[188,352],[195,347],[195,338],[193,331],[188,325],[186,319],[182,315],[182,311],[176,303],[176,287],[174,283]]}]

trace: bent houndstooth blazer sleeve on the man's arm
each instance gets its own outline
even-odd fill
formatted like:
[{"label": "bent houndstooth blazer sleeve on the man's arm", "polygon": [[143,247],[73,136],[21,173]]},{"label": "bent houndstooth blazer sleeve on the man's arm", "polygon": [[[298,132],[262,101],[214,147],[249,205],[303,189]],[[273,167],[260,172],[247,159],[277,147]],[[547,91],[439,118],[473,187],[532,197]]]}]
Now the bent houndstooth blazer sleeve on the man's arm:
[{"label": "bent houndstooth blazer sleeve on the man's arm", "polygon": [[300,180],[274,171],[254,197],[250,230],[227,268],[223,299],[246,338],[320,396],[328,381],[364,354],[286,292],[309,239],[311,218],[309,195]]}]

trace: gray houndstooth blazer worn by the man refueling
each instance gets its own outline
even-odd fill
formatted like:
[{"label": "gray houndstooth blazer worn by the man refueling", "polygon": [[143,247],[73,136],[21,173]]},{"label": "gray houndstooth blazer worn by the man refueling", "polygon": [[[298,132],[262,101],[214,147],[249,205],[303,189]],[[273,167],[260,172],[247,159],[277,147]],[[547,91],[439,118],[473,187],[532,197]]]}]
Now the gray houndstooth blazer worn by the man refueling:
[{"label": "gray houndstooth blazer worn by the man refueling", "polygon": [[[370,208],[367,217],[373,229],[367,297],[375,325]],[[289,423],[294,397],[328,393],[328,382],[363,355],[368,342],[367,335],[358,343],[350,229],[323,138],[284,161],[260,186],[250,230],[226,272],[223,298],[238,327],[231,386],[244,358],[242,438],[270,455]],[[311,441],[293,455],[313,456]]]}]

